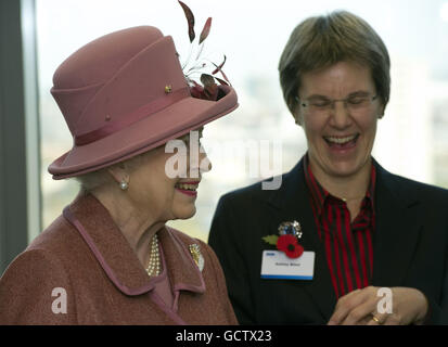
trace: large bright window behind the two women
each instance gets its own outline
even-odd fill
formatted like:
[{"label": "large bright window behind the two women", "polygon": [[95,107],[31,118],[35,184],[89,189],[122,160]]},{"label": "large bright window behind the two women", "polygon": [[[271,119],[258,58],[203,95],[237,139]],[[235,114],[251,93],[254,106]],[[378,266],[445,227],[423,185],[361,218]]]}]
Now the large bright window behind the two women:
[{"label": "large bright window behind the two women", "polygon": [[[240,107],[206,126],[205,144],[207,147],[208,143],[214,168],[201,183],[196,215],[170,224],[206,240],[220,195],[286,171],[302,157],[305,137],[284,105],[277,66],[291,31],[302,20],[335,9],[367,20],[392,55],[392,98],[379,125],[375,158],[395,174],[448,187],[448,1],[185,2],[196,17],[196,31],[208,16],[213,17],[204,54],[227,55],[223,69],[238,91]],[[90,40],[131,26],[154,25],[171,35],[181,55],[188,52],[189,39],[177,1],[37,0],[37,24],[47,227],[78,190],[76,182],[53,181],[47,172],[48,165],[72,147],[64,118],[49,92],[59,64]],[[227,155],[213,145],[218,140],[231,143]],[[276,149],[276,141],[282,142],[281,151]],[[270,145],[270,158],[256,157],[261,143]],[[234,155],[229,154],[232,152]],[[281,165],[274,165],[274,154],[280,155]],[[249,172],[251,158],[270,163],[265,167],[271,170]]]}]

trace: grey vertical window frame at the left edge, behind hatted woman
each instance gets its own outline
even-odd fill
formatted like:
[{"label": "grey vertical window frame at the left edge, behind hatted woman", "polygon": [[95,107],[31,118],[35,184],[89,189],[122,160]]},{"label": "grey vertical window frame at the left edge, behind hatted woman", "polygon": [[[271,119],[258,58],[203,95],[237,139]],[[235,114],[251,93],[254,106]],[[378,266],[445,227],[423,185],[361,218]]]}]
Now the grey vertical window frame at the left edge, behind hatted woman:
[{"label": "grey vertical window frame at the left edge, behind hatted woman", "polygon": [[0,1],[0,274],[41,230],[35,17]]}]

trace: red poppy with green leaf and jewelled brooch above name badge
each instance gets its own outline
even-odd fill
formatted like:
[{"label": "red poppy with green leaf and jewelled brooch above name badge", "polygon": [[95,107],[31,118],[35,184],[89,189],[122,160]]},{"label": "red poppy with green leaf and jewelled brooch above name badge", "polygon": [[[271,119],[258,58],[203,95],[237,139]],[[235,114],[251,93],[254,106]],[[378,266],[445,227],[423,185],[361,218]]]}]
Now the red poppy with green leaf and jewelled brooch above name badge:
[{"label": "red poppy with green leaf and jewelled brooch above name badge", "polygon": [[298,258],[304,253],[304,247],[298,243],[302,239],[302,227],[298,221],[284,221],[279,228],[279,235],[267,235],[261,237],[266,243],[277,246],[284,252],[289,258]]}]

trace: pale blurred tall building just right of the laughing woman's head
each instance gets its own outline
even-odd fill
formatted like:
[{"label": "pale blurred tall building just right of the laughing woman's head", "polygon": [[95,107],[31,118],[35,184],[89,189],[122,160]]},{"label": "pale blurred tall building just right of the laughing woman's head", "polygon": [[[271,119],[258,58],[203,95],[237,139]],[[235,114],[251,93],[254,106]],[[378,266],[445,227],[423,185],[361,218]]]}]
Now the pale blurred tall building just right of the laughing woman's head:
[{"label": "pale blurred tall building just right of the laughing woman's head", "polygon": [[374,157],[387,170],[408,178],[434,180],[430,66],[392,54],[392,92],[379,121]]}]

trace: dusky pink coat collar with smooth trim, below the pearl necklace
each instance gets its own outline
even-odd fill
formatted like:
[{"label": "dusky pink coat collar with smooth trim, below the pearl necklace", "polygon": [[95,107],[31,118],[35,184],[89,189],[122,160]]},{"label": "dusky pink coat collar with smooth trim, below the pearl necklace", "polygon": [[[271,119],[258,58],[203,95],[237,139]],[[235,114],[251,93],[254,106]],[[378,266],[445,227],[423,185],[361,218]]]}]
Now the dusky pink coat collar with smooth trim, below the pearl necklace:
[{"label": "dusky pink coat collar with smooth trim, below the pearl necklace", "polygon": [[[148,277],[107,209],[93,195],[78,195],[63,215],[86,241],[111,282],[124,294],[148,293],[162,280],[162,275]],[[179,237],[164,227],[158,231],[158,239],[172,291],[204,293],[202,274]]]}]

